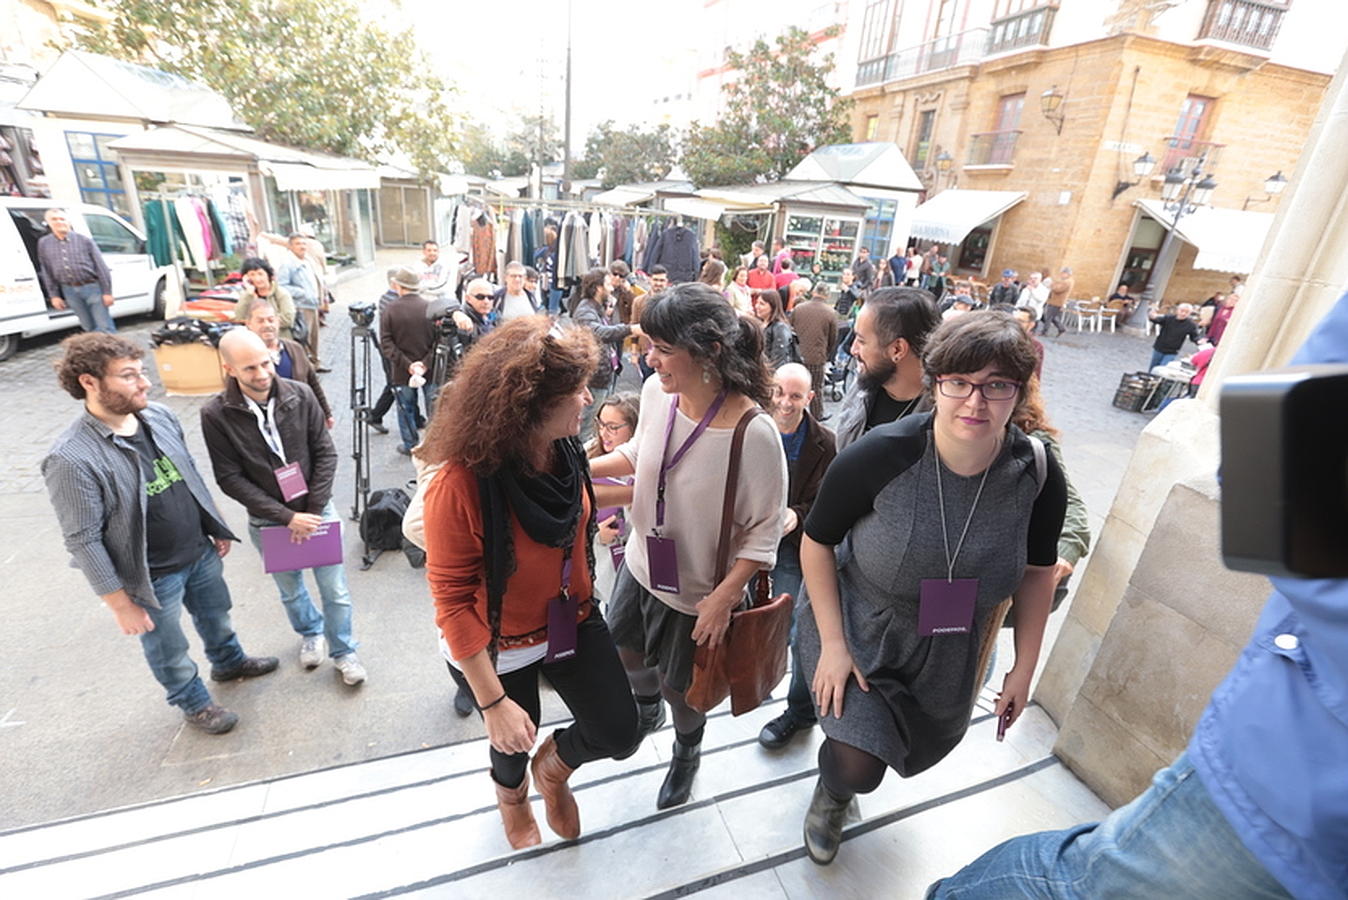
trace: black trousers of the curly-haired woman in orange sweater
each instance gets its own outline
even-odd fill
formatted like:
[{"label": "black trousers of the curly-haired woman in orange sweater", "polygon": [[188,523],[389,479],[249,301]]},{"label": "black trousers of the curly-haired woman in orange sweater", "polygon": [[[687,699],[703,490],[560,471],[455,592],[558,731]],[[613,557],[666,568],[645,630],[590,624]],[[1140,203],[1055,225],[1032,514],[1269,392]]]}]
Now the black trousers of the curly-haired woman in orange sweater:
[{"label": "black trousers of the curly-haired woman in orange sweater", "polygon": [[[597,610],[576,628],[574,656],[558,663],[539,660],[500,675],[506,695],[528,713],[535,726],[541,715],[539,675],[561,695],[576,719],[554,733],[562,763],[580,768],[590,760],[630,750],[636,742],[636,701],[627,686],[608,625]],[[528,753],[501,753],[492,748],[491,757],[497,784],[518,787],[524,780]]]}]

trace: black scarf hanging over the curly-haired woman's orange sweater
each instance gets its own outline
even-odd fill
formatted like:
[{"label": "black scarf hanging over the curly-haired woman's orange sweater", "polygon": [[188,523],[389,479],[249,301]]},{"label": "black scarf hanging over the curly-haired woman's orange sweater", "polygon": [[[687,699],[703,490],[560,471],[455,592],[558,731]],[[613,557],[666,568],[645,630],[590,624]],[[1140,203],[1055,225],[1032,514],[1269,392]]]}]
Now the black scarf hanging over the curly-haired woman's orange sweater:
[{"label": "black scarf hanging over the curly-haired woman's orange sweater", "polygon": [[[558,465],[554,472],[524,472],[508,462],[489,476],[479,476],[483,507],[483,562],[487,570],[487,624],[492,631],[488,647],[492,662],[501,633],[501,605],[506,583],[515,574],[515,547],[511,540],[511,513],[531,540],[545,547],[568,548],[581,524],[581,490],[589,496],[590,515],[585,521],[585,562],[594,583],[594,488],[589,461],[578,438],[553,443]],[[588,597],[582,597],[589,600]]]}]

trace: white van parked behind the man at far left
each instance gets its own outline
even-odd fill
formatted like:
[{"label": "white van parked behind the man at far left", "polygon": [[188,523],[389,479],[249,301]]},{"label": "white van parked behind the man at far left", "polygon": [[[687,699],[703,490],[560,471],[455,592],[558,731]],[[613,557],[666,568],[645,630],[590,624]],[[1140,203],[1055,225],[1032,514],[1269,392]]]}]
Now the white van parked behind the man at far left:
[{"label": "white van parked behind the man at far left", "polygon": [[80,327],[69,309],[55,310],[38,280],[38,238],[47,233],[43,216],[65,209],[70,226],[93,238],[112,272],[113,318],[164,314],[171,265],[155,265],[146,252],[146,236],[102,206],[63,205],[53,199],[0,197],[0,360],[19,349],[19,338]]}]

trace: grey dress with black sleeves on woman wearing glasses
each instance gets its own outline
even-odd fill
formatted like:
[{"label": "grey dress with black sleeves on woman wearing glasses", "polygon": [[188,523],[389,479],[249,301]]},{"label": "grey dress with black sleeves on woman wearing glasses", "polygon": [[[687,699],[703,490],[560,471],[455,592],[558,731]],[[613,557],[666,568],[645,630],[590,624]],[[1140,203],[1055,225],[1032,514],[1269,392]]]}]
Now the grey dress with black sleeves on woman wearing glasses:
[{"label": "grey dress with black sleeves on woman wearing glasses", "polygon": [[[1051,455],[1041,490],[1033,445],[1012,427],[954,566],[956,578],[979,579],[973,625],[967,635],[921,637],[921,582],[946,575],[930,423],[930,415],[909,416],[849,446],[829,468],[806,520],[811,539],[836,546],[844,633],[871,687],[861,691],[851,679],[842,717],[824,717],[824,733],[903,776],[938,763],[964,737],[980,676],[980,622],[1019,586],[1027,562],[1057,560],[1066,505]],[[980,480],[941,472],[952,552]],[[798,651],[813,680],[820,635],[807,597],[797,616]]]}]

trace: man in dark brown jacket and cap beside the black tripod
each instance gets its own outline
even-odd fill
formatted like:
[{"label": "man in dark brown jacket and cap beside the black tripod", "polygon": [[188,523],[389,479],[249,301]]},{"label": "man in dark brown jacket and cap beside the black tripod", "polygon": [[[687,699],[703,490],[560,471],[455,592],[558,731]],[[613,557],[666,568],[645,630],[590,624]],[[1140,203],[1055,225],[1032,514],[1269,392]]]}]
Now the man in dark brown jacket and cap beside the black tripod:
[{"label": "man in dark brown jacket and cap beside the black tripod", "polygon": [[394,377],[394,397],[398,400],[398,431],[402,443],[398,453],[410,457],[421,441],[417,428],[417,391],[426,401],[430,416],[435,385],[426,373],[435,356],[435,326],[429,315],[430,306],[418,288],[421,279],[408,268],[394,272],[390,286],[398,294],[379,311],[379,349],[388,360]]}]

